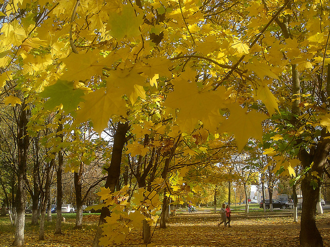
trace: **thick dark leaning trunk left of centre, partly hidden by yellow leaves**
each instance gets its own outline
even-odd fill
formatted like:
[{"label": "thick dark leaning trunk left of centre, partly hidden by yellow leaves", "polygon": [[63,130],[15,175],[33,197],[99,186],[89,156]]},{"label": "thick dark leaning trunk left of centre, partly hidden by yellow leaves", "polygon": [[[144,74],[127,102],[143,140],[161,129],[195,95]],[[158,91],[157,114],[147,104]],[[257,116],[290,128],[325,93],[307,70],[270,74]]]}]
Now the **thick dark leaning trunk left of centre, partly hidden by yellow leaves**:
[{"label": "thick dark leaning trunk left of centre, partly hidden by yellow leaves", "polygon": [[[117,180],[120,176],[120,164],[121,164],[121,155],[126,142],[126,133],[129,130],[130,126],[128,123],[118,123],[116,134],[114,136],[114,146],[112,151],[112,157],[109,168],[105,169],[108,172],[107,180],[104,185],[105,188],[109,188],[111,193],[115,192]],[[102,236],[101,225],[105,222],[105,217],[110,216],[109,209],[103,207],[101,210],[101,215],[99,219],[99,224],[96,229],[96,233],[93,239],[92,247],[99,246],[99,239]]]}]

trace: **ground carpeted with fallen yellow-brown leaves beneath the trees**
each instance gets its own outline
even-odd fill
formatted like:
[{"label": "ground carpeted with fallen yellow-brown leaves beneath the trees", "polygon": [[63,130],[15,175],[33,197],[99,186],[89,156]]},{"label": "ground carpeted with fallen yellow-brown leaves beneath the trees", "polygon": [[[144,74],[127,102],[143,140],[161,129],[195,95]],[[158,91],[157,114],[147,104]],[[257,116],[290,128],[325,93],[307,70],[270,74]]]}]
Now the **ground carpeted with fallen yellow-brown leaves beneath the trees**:
[{"label": "ground carpeted with fallen yellow-brown leaves beneath the trees", "polygon": [[[2,218],[3,219],[3,218]],[[73,247],[91,246],[98,215],[84,216],[84,229],[73,230],[74,218],[63,224],[64,235],[54,235],[53,221],[47,226],[45,241],[38,241],[38,228],[27,227],[25,241],[27,246]],[[167,229],[154,230],[154,247],[291,247],[299,246],[300,224],[292,222],[291,214],[279,212],[275,215],[233,214],[232,228],[217,227],[219,214],[211,212],[182,213],[170,218]],[[330,212],[317,216],[317,227],[323,237],[324,246],[330,246]],[[10,246],[14,239],[13,229],[0,220],[0,246]],[[118,246],[139,246],[142,244],[142,231],[132,231],[124,243]]]}]

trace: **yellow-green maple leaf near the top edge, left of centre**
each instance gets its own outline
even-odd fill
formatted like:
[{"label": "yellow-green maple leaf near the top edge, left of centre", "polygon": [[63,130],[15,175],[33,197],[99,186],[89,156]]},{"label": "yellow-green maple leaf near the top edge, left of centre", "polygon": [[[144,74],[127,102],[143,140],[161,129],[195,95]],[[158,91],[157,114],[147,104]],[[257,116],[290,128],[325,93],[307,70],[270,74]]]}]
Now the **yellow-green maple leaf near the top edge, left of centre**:
[{"label": "yellow-green maple leaf near the top edge, left of centre", "polygon": [[134,8],[124,5],[121,14],[109,13],[107,30],[116,39],[137,37],[141,34],[139,27],[143,23],[141,15],[136,16]]}]

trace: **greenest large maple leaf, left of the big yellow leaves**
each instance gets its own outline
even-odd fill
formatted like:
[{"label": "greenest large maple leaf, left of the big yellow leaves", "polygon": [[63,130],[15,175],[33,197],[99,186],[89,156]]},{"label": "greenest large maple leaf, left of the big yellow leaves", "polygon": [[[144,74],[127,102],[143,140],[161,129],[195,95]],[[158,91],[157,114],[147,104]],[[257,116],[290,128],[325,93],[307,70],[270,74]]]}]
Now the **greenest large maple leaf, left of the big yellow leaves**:
[{"label": "greenest large maple leaf, left of the big yellow leaves", "polygon": [[49,98],[45,103],[45,109],[52,110],[55,106],[63,105],[63,110],[73,112],[78,104],[83,101],[82,89],[74,89],[73,82],[58,80],[54,85],[48,86],[39,94],[40,97]]}]

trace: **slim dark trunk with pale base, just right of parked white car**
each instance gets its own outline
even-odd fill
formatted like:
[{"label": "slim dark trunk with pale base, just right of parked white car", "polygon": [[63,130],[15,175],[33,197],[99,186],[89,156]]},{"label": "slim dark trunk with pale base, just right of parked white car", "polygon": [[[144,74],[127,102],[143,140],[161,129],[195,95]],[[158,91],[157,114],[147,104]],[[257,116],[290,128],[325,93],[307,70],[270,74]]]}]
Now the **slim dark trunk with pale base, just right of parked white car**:
[{"label": "slim dark trunk with pale base, just right of parked white car", "polygon": [[74,229],[82,228],[82,178],[83,178],[83,162],[80,162],[79,173],[74,174],[74,184],[75,184],[75,192],[76,192],[76,226]]}]

